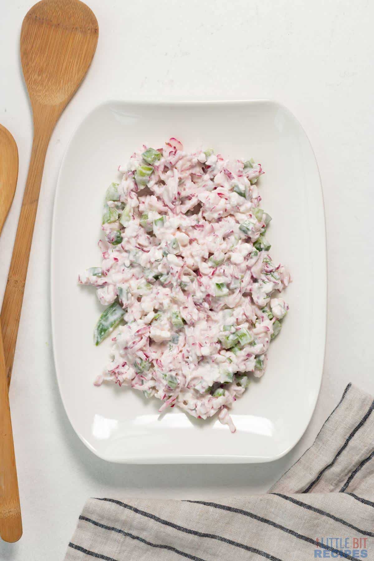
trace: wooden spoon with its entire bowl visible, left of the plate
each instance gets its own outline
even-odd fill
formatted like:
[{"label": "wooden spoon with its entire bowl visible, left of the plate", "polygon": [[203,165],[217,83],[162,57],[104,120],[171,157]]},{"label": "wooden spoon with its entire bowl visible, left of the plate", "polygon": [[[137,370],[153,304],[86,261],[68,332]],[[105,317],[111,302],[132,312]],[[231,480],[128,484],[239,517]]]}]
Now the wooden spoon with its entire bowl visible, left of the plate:
[{"label": "wooden spoon with its entire bowl visible, left of the plate", "polygon": [[21,62],[33,108],[34,141],[1,310],[8,383],[45,154],[59,116],[90,66],[98,34],[99,26],[94,13],[79,0],[42,0],[26,13],[22,23]]}]

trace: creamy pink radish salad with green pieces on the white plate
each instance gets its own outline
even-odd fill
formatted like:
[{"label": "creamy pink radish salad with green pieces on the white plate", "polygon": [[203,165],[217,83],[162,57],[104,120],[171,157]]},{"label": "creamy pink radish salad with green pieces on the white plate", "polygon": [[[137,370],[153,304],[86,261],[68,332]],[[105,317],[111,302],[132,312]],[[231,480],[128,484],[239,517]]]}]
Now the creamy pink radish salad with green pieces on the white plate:
[{"label": "creamy pink radish salad with green pieces on the white plate", "polygon": [[271,217],[260,208],[261,165],[186,153],[170,139],[160,150],[144,146],[119,171],[104,206],[103,264],[79,277],[112,305],[96,344],[123,313],[96,384],[131,385],[161,399],[160,411],[177,405],[202,419],[219,412],[234,431],[228,408],[250,373],[264,374],[288,310],[272,298],[290,277],[264,236]]}]

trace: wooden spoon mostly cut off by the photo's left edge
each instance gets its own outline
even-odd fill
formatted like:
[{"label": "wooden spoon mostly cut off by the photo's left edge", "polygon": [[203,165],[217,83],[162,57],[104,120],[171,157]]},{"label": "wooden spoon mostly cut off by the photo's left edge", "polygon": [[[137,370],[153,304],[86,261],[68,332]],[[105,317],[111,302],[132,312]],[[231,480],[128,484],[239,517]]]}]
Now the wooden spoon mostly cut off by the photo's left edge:
[{"label": "wooden spoon mostly cut off by the photo's left edge", "polygon": [[[0,125],[0,233],[11,208],[18,176],[18,150],[15,140]],[[22,536],[7,373],[0,328],[0,536],[17,541]]]}]

